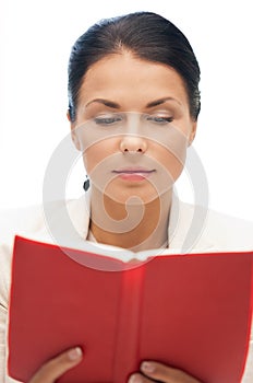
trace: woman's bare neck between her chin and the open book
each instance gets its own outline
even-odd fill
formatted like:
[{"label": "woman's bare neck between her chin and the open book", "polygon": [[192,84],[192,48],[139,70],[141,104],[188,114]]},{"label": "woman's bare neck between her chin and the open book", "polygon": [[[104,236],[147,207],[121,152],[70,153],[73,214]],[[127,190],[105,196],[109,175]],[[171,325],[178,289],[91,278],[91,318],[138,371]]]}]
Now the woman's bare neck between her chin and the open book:
[{"label": "woman's bare neck between her chin and the open book", "polygon": [[92,190],[91,231],[99,243],[133,252],[168,246],[171,190],[147,204],[132,199],[120,204]]}]

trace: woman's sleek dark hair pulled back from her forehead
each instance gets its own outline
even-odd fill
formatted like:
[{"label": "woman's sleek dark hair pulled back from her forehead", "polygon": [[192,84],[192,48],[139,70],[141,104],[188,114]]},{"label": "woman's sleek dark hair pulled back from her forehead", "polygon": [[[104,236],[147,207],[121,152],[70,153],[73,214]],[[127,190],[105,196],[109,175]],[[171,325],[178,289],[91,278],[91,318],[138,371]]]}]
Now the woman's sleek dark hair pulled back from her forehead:
[{"label": "woman's sleek dark hair pulled back from her forehead", "polygon": [[167,19],[152,12],[136,12],[101,20],[74,44],[69,61],[69,112],[72,121],[79,92],[89,67],[111,54],[130,50],[133,56],[172,67],[183,79],[190,113],[197,119],[201,108],[200,67],[193,49]]}]

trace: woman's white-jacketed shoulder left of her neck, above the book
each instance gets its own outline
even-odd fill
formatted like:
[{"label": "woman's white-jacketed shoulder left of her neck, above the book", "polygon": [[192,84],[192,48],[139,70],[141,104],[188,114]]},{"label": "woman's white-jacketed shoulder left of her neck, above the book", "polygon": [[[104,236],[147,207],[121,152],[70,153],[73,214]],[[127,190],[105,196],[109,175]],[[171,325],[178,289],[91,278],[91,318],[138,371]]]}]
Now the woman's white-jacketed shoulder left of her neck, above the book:
[{"label": "woman's white-jacketed shoulder left of her neck, above the book", "polygon": [[68,235],[64,228],[71,225],[79,234],[84,234],[88,220],[83,198],[0,210],[0,269],[11,257],[15,235],[53,242],[57,230],[61,230],[62,236]]}]

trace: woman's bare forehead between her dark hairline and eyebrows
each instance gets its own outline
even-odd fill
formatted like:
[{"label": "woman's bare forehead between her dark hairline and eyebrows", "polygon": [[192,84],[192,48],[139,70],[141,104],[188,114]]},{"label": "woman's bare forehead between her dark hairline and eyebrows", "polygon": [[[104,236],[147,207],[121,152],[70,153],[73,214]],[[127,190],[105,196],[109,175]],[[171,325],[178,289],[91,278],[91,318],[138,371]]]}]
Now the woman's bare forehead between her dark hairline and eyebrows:
[{"label": "woman's bare forehead between her dark hairline and eyebrows", "polygon": [[133,103],[150,102],[164,96],[188,103],[184,82],[171,67],[138,59],[130,53],[107,56],[94,63],[85,74],[80,101],[105,97]]}]

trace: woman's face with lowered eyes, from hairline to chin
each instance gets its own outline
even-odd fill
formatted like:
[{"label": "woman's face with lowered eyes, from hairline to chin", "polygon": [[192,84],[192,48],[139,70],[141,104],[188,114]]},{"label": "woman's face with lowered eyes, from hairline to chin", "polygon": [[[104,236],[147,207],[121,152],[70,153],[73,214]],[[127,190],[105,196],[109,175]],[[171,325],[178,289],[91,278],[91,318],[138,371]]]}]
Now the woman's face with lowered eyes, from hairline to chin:
[{"label": "woman's face with lowered eyes, from hairline to chin", "polygon": [[94,187],[147,202],[171,189],[195,129],[178,72],[124,53],[87,71],[72,137]]}]

